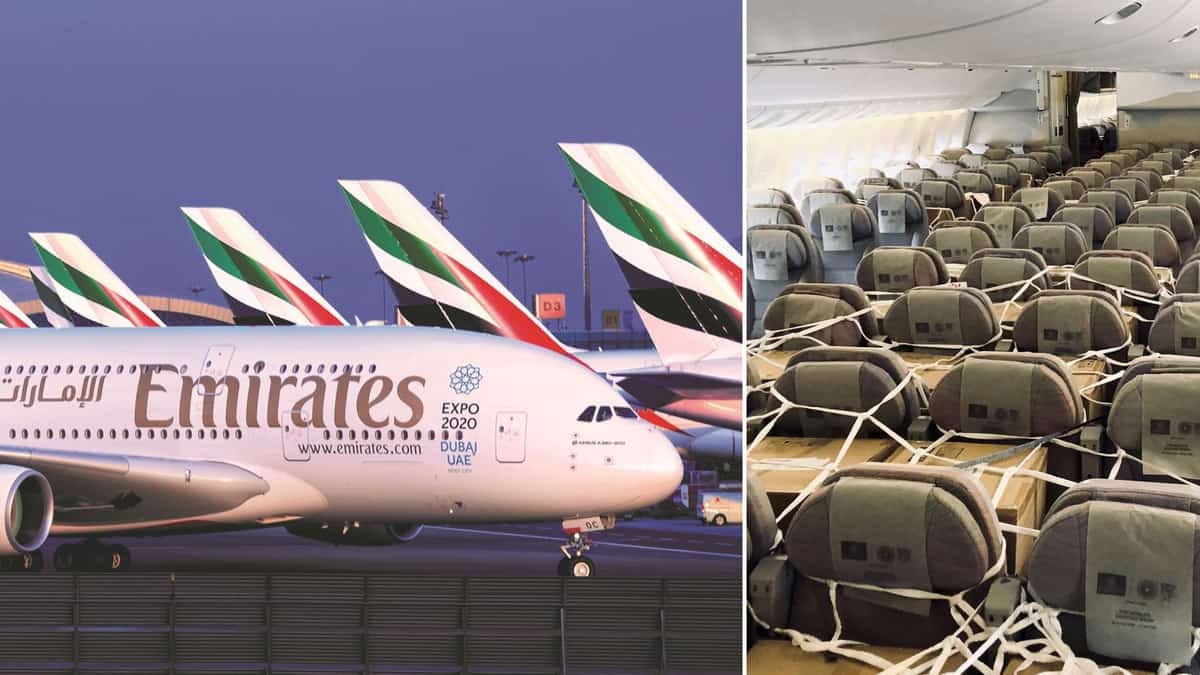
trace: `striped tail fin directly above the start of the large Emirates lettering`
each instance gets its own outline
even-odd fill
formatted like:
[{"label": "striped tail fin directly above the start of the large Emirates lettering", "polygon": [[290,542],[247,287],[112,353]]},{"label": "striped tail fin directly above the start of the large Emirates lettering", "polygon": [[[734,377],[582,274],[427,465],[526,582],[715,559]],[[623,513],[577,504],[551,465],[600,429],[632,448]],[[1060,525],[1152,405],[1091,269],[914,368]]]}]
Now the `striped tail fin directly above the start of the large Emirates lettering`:
[{"label": "striped tail fin directly above the start of the large Emirates lettering", "polygon": [[182,211],[236,323],[348,325],[240,213],[193,207]]}]

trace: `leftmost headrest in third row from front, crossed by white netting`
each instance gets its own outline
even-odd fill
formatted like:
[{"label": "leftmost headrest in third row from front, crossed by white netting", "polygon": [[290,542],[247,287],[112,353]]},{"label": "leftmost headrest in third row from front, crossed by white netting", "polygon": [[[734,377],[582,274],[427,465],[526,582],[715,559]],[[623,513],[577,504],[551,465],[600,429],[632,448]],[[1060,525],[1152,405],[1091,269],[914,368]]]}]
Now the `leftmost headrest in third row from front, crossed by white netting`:
[{"label": "leftmost headrest in third row from front, crossed by white netting", "polygon": [[[767,306],[762,316],[764,330],[786,330],[840,316],[850,316],[870,307],[870,300],[858,286],[850,283],[792,283],[785,287]],[[866,338],[880,334],[875,312],[868,311],[853,319],[833,323],[826,328],[781,341],[776,350],[800,350],[815,341],[841,347],[857,347]]]}]

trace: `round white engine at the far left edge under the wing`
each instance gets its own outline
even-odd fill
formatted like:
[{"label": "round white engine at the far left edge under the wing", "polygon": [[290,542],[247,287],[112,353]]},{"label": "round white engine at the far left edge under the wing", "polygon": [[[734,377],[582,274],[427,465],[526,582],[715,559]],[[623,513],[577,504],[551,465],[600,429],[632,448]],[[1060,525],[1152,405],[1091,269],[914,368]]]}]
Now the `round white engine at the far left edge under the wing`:
[{"label": "round white engine at the far left edge under the wing", "polygon": [[54,521],[54,495],[44,476],[25,468],[0,464],[0,555],[34,552],[50,536]]}]

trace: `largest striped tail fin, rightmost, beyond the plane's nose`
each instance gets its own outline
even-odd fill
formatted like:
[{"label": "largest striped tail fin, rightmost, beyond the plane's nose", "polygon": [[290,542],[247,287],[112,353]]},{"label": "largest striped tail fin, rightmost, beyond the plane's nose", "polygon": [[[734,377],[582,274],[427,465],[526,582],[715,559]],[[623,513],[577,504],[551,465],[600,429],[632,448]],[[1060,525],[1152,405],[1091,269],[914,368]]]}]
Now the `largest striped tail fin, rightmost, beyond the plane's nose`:
[{"label": "largest striped tail fin, rightmost, beyond the plane's nose", "polygon": [[632,148],[559,149],[664,363],[740,354],[737,250]]}]

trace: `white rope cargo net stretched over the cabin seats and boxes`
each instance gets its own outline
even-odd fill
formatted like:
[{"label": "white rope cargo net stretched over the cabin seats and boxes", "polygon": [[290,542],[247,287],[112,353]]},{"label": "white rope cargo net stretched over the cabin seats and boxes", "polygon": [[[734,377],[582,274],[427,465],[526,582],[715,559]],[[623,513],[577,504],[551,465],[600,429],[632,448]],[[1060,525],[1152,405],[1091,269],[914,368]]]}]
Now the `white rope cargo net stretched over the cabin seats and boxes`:
[{"label": "white rope cargo net stretched over the cabin seats and boxes", "polygon": [[[1032,287],[1032,282],[1034,279],[1040,277],[1048,271],[1049,270],[1043,270],[1032,279],[1004,286],[1018,287],[1018,291],[1014,293],[1013,297],[1020,298],[1022,297],[1021,295],[1022,293],[1025,293],[1028,288]],[[1086,280],[1090,283],[1106,287],[1114,293],[1116,293],[1118,300],[1128,298],[1138,303],[1159,305],[1162,303],[1163,295],[1165,294],[1165,292],[1159,293],[1157,295],[1136,293],[1134,291],[1115,287],[1109,283],[1097,281],[1094,279],[1087,279],[1082,275],[1075,274],[1074,270],[1068,270],[1067,283],[1069,283],[1072,279],[1081,279]],[[988,291],[994,292],[1000,288],[1003,287],[997,286],[989,288]],[[1003,301],[1003,304],[1007,306],[1013,301],[1014,300],[1006,300]],[[869,311],[874,311],[874,307],[868,306],[863,310],[858,310],[856,312],[845,316],[839,316],[826,321],[815,322],[811,324],[797,325],[785,330],[768,331],[763,338],[750,341],[748,344],[749,356],[751,358],[756,356],[762,356],[766,352],[776,348],[779,345],[797,339],[805,339],[805,341],[811,341],[811,346],[824,345],[820,340],[812,338],[812,335],[824,329],[828,329],[840,322],[850,322],[857,325],[859,331],[862,331],[862,324],[859,323],[858,317],[863,316]],[[1127,315],[1132,313],[1133,316],[1136,316],[1139,321],[1148,321],[1136,315],[1136,312],[1130,312],[1124,307],[1122,307],[1122,311]],[[1008,467],[994,467],[988,464],[978,464],[967,468],[967,471],[973,473],[976,478],[980,478],[984,474],[998,476],[996,489],[991,495],[992,507],[1001,503],[1006,490],[1009,488],[1015,477],[1030,477],[1034,480],[1042,480],[1044,483],[1050,483],[1063,488],[1072,488],[1076,484],[1073,480],[1060,478],[1057,476],[1052,476],[1044,471],[1037,471],[1030,468],[1030,466],[1038,456],[1038,454],[1045,453],[1049,446],[1058,446],[1062,448],[1075,450],[1078,453],[1093,455],[1096,458],[1099,458],[1100,460],[1111,460],[1112,466],[1108,473],[1108,478],[1116,478],[1120,474],[1122,466],[1124,466],[1124,462],[1128,461],[1141,465],[1144,467],[1152,468],[1162,474],[1169,476],[1170,478],[1180,483],[1200,488],[1200,485],[1193,483],[1192,480],[1188,480],[1181,476],[1171,473],[1170,471],[1166,471],[1163,467],[1158,467],[1151,462],[1147,462],[1141,458],[1134,456],[1124,448],[1121,448],[1115,443],[1114,443],[1115,447],[1114,452],[1100,452],[1067,441],[1063,437],[1057,437],[1057,435],[1044,436],[1044,437],[1020,437],[1020,436],[1014,437],[1014,436],[1002,436],[991,434],[964,434],[959,432],[958,430],[942,429],[940,426],[937,428],[937,430],[941,434],[934,441],[912,442],[906,437],[904,437],[902,435],[898,434],[894,429],[890,429],[887,424],[884,424],[876,417],[876,413],[878,413],[878,411],[883,407],[884,404],[887,404],[895,396],[901,395],[901,393],[907,387],[914,383],[916,378],[919,378],[923,371],[936,368],[941,369],[953,368],[954,365],[958,365],[959,363],[965,360],[970,354],[986,350],[990,345],[992,345],[996,340],[998,340],[1002,336],[1001,335],[1002,333],[1003,329],[997,331],[997,334],[992,339],[982,345],[950,346],[949,350],[953,351],[948,352],[948,356],[946,358],[938,359],[929,364],[911,366],[908,372],[905,374],[905,376],[900,380],[900,382],[895,386],[895,388],[888,392],[875,405],[862,412],[828,408],[814,405],[802,405],[790,401],[774,388],[774,382],[766,382],[755,387],[748,386],[746,387],[748,396],[751,395],[756,398],[767,396],[773,404],[778,405],[778,407],[773,407],[767,412],[758,414],[750,414],[746,417],[748,429],[754,429],[755,426],[761,425],[761,428],[754,435],[754,438],[751,440],[746,449],[748,450],[746,456],[749,458],[748,459],[749,468],[754,470],[755,467],[761,467],[763,470],[816,471],[816,476],[812,478],[812,480],[808,483],[808,486],[804,488],[796,496],[796,498],[793,498],[776,515],[776,521],[785,519],[788,514],[796,510],[796,508],[799,507],[815,490],[817,490],[829,476],[832,476],[835,471],[838,471],[841,467],[842,462],[845,461],[846,454],[851,448],[851,444],[854,442],[858,435],[863,431],[864,426],[868,424],[874,425],[875,429],[877,429],[884,436],[894,441],[902,450],[907,452],[908,453],[908,458],[906,460],[907,464],[925,464],[928,466],[937,466],[937,465],[953,466],[958,464],[958,460],[938,456],[937,454],[935,454],[935,452],[940,446],[942,446],[943,443],[948,442],[952,438],[1020,442],[1020,446],[1016,447],[1022,448],[1019,452],[1024,452],[1026,454],[1015,465]],[[863,339],[866,341],[868,345],[884,350],[892,350],[898,346],[901,346],[901,344],[874,339],[865,334],[863,334]],[[1117,347],[1090,351],[1085,354],[1081,354],[1067,362],[1067,365],[1069,369],[1072,369],[1072,372],[1074,372],[1074,368],[1080,362],[1090,358],[1104,359],[1105,362],[1108,362],[1109,365],[1121,369],[1117,372],[1108,375],[1100,378],[1099,381],[1081,388],[1080,393],[1085,399],[1102,406],[1110,405],[1109,402],[1105,401],[1090,399],[1087,398],[1086,393],[1092,392],[1099,387],[1103,387],[1110,382],[1117,381],[1124,375],[1123,369],[1124,366],[1128,365],[1128,363],[1116,360],[1110,354],[1128,347],[1130,342],[1132,340],[1126,340],[1124,344]],[[941,350],[947,350],[947,345],[904,345],[904,346],[937,347]],[[1158,354],[1153,356],[1157,357]],[[919,381],[917,382],[917,384],[918,384],[917,389],[924,393],[925,390],[924,386],[922,386]],[[928,400],[923,400],[922,406],[928,407]],[[810,410],[824,414],[834,414],[834,416],[852,418],[853,422],[851,423],[846,438],[842,441],[841,446],[838,449],[836,455],[832,461],[826,462],[820,467],[815,467],[810,460],[808,461],[793,460],[788,458],[770,458],[760,460],[751,456],[754,448],[760,442],[762,442],[763,438],[770,435],[772,429],[775,426],[775,424],[779,422],[782,414],[791,410]],[[1088,420],[1088,422],[1096,423],[1097,420]],[[1074,432],[1081,426],[1082,425],[1079,425],[1069,431]],[[1018,537],[1036,538],[1039,533],[1039,530],[1021,527],[1019,525],[1012,525],[1006,522],[998,522],[998,525],[1002,532],[1009,532]],[[782,542],[782,534],[780,533],[776,537],[773,549],[778,549],[781,542]],[[1072,674],[1094,673],[1094,674],[1108,675],[1117,673],[1126,673],[1126,674],[1129,673],[1123,668],[1102,667],[1100,664],[1096,663],[1092,659],[1076,656],[1072,650],[1072,647],[1063,640],[1062,626],[1060,623],[1058,616],[1061,614],[1082,615],[1082,613],[1055,609],[1045,607],[1042,603],[1037,602],[1036,599],[1027,599],[1024,589],[1020,593],[1021,602],[1018,604],[1016,609],[1000,626],[988,626],[982,616],[983,601],[980,601],[979,604],[972,605],[966,599],[966,596],[970,595],[976,589],[979,589],[980,586],[986,586],[996,577],[1004,573],[1006,562],[1007,562],[1007,540],[1003,537],[1001,537],[1000,555],[997,556],[997,560],[991,566],[991,568],[988,569],[984,578],[980,580],[979,585],[973,589],[967,589],[954,595],[943,595],[917,589],[889,589],[870,584],[846,583],[832,579],[820,579],[809,577],[808,579],[824,584],[829,589],[829,602],[833,609],[833,619],[834,619],[834,632],[829,639],[821,639],[815,635],[810,635],[792,628],[769,626],[763,621],[761,621],[755,615],[752,608],[749,609],[749,613],[750,617],[758,626],[773,633],[788,638],[794,646],[804,651],[826,652],[836,656],[842,656],[846,658],[852,658],[854,661],[865,663],[872,668],[877,668],[880,671],[887,673],[889,675],[893,674],[899,675],[901,673],[938,674],[938,673],[950,671],[952,669],[955,673],[965,673],[970,670],[972,673],[978,671],[989,675],[1001,675],[1001,673],[1004,671],[1004,668],[1008,664],[1007,662],[1009,659],[1015,659],[1019,662],[1015,673],[1021,673],[1034,664],[1042,665],[1043,668],[1061,665],[1060,670],[1061,673],[1072,673]],[[878,655],[865,651],[863,647],[868,645],[865,645],[864,643],[842,638],[842,622],[838,609],[839,586],[876,591],[905,598],[946,602],[948,604],[950,616],[958,626],[958,629],[954,631],[952,634],[947,635],[940,643],[925,650],[918,651],[904,661],[890,662]],[[1027,635],[1028,632],[1031,631],[1037,635],[1033,638],[1022,638],[1021,635],[1022,633]],[[1193,628],[1193,641],[1192,641],[1193,656],[1196,653],[1198,649],[1200,649],[1200,629]],[[1158,673],[1166,675],[1177,668],[1180,668],[1180,665],[1177,664],[1160,664],[1158,668]],[[1045,670],[1043,669],[1043,671]]]}]

